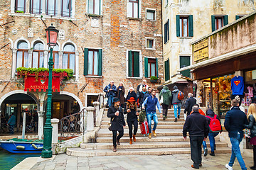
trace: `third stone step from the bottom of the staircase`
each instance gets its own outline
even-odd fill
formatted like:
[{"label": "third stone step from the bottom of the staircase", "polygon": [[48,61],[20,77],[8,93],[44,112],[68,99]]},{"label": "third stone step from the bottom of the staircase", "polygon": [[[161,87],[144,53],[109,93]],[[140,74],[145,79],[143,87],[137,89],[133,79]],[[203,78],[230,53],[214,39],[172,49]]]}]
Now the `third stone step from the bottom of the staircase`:
[{"label": "third stone step from the bottom of the staircase", "polygon": [[[129,135],[125,135],[120,139],[120,142],[129,142]],[[220,140],[219,137],[215,137],[215,141],[218,142]],[[189,141],[189,137],[188,137]],[[207,139],[208,141],[208,139]],[[112,135],[108,137],[97,137],[96,138],[97,143],[112,143]],[[162,142],[184,142],[182,136],[160,136],[159,134],[154,137],[152,136],[151,139],[149,139],[148,135],[142,136],[139,133],[137,133],[136,142],[148,142],[151,144],[151,142],[159,142],[163,144]]]}]

